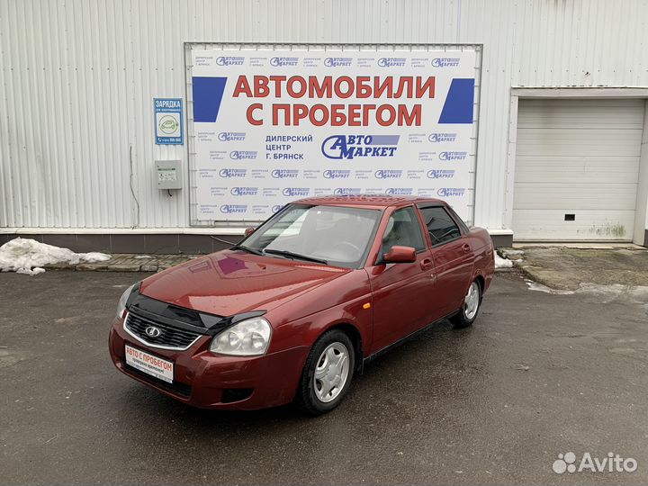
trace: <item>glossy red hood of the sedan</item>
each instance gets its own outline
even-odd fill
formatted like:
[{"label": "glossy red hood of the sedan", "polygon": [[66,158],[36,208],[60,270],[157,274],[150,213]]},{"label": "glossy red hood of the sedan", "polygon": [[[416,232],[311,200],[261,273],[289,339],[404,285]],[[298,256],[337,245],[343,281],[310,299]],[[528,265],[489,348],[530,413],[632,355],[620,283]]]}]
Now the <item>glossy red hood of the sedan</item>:
[{"label": "glossy red hood of the sedan", "polygon": [[270,311],[351,270],[224,250],[145,279],[139,292],[218,316]]}]

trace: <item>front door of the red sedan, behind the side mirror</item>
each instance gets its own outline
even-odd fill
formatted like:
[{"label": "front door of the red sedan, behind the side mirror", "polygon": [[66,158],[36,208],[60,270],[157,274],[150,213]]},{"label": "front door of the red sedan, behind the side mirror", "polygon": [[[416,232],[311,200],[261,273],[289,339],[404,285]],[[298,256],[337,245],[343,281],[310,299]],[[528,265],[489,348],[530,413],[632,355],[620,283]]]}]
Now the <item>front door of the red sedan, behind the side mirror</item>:
[{"label": "front door of the red sedan, behind the side mirror", "polygon": [[414,206],[392,212],[382,235],[380,256],[393,246],[414,247],[413,263],[383,264],[368,269],[374,294],[372,352],[428,324],[434,292],[434,264]]}]

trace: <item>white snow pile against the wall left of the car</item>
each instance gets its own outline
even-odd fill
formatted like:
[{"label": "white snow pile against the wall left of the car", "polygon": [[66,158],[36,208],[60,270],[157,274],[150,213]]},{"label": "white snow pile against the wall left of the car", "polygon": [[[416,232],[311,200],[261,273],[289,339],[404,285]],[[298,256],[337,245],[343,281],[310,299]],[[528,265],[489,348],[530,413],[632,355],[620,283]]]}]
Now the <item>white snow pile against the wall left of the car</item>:
[{"label": "white snow pile against the wall left of the car", "polygon": [[42,274],[43,266],[60,263],[76,265],[105,262],[110,255],[104,253],[75,253],[70,249],[54,247],[30,238],[14,238],[0,247],[0,271],[18,274]]}]

